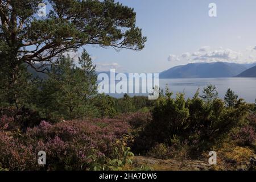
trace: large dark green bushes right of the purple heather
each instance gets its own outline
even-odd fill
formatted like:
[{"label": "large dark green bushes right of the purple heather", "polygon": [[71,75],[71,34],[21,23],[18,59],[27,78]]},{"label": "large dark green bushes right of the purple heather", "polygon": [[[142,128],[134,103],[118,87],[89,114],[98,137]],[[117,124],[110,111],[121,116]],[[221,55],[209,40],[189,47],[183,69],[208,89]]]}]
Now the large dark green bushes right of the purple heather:
[{"label": "large dark green bushes right of the purple heather", "polygon": [[201,98],[198,90],[192,99],[185,100],[183,93],[174,98],[167,89],[155,102],[152,121],[135,139],[133,151],[163,158],[177,151],[179,155],[193,157],[229,139],[230,143],[236,141],[243,146],[253,144],[256,128],[250,104],[239,99],[233,106],[225,106],[216,97],[215,86],[209,85],[204,91]]}]

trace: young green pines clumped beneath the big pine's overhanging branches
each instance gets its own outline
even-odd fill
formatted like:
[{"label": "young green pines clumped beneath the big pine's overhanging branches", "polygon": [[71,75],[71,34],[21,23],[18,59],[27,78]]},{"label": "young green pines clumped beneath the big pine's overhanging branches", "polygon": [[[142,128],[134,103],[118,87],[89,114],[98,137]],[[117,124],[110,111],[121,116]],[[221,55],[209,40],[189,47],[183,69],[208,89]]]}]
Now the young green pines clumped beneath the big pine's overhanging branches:
[{"label": "young green pines clumped beneath the big pine's overhanging branches", "polygon": [[42,87],[40,103],[45,113],[56,118],[75,119],[92,117],[94,107],[91,99],[96,94],[97,76],[95,66],[87,52],[79,57],[79,67],[70,57],[62,57],[53,65],[48,80]]}]

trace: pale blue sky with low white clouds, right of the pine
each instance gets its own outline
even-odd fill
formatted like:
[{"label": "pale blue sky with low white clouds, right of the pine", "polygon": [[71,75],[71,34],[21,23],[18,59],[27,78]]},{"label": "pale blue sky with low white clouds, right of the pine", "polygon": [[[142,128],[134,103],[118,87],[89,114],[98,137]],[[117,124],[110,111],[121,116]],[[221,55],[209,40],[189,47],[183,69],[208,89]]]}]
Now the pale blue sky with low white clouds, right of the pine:
[{"label": "pale blue sky with low white clouds, right of the pine", "polygon": [[[256,61],[255,0],[119,2],[134,8],[147,42],[142,51],[85,46],[97,71],[156,73],[195,62]],[[209,16],[210,3],[217,17]]]}]

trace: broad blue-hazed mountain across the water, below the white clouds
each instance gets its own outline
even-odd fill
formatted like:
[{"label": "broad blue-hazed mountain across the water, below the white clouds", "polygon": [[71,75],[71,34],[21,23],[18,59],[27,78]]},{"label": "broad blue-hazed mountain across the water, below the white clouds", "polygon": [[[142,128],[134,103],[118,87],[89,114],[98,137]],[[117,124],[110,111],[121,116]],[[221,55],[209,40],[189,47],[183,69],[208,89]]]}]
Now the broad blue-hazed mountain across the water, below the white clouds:
[{"label": "broad blue-hazed mountain across the water, below the white clouds", "polygon": [[179,65],[160,73],[159,78],[219,78],[234,77],[250,65],[236,63],[191,63]]}]

